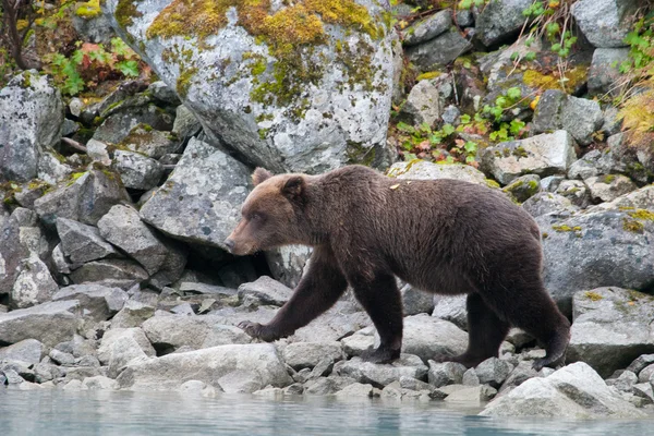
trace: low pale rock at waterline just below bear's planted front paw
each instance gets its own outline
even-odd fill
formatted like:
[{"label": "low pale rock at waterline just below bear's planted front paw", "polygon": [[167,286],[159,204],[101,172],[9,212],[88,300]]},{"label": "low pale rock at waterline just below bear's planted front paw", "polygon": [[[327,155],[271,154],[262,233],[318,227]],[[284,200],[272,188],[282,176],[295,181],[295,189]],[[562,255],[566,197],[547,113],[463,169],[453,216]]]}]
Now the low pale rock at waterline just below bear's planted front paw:
[{"label": "low pale rock at waterline just below bear's planted front paw", "polygon": [[363,362],[360,358],[352,358],[334,365],[335,374],[354,378],[359,383],[370,383],[375,387],[384,387],[403,376],[423,379],[427,371],[422,360],[411,354],[402,354],[400,359],[389,364],[375,364]]}]

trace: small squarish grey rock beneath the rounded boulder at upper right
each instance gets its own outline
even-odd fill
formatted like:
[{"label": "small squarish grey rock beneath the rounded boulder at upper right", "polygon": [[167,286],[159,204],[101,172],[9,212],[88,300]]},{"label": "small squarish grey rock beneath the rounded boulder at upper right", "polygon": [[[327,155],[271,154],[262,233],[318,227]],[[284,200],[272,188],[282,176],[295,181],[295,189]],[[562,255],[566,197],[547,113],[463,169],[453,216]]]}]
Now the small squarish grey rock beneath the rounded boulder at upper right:
[{"label": "small squarish grey rock beneath the rounded boulder at upper right", "polygon": [[589,94],[608,94],[618,97],[620,85],[620,64],[629,59],[628,48],[597,48],[593,51],[593,61],[589,70]]}]

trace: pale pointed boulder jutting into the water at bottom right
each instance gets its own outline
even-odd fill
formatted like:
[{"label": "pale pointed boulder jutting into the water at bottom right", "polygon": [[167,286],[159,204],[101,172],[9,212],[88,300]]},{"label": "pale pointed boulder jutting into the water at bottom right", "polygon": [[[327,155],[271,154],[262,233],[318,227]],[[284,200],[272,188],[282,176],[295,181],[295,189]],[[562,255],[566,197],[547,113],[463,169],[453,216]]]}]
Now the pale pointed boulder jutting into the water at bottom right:
[{"label": "pale pointed boulder jutting into the water at bottom right", "polygon": [[491,402],[480,414],[556,419],[645,416],[582,362],[558,370],[547,378],[524,382]]}]

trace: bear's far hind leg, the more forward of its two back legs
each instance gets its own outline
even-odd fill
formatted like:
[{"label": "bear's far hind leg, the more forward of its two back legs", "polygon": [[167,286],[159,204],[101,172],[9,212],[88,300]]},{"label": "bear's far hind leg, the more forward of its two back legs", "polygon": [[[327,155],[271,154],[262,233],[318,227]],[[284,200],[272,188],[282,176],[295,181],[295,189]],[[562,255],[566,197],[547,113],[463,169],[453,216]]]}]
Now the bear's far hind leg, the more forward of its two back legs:
[{"label": "bear's far hind leg, the more forward of its two back legs", "polygon": [[468,294],[468,350],[455,358],[440,358],[441,362],[458,362],[473,367],[489,358],[497,358],[499,346],[510,325],[501,320],[479,293]]}]

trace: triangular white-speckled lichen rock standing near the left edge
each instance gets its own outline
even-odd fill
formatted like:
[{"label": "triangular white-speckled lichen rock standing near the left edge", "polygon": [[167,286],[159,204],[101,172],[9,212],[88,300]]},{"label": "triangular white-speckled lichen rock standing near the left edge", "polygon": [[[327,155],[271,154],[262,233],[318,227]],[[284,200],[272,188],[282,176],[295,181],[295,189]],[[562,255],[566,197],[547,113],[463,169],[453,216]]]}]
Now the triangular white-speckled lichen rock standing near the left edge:
[{"label": "triangular white-speckled lichen rock standing near the left edge", "polygon": [[13,307],[25,308],[45,303],[59,290],[48,266],[36,253],[21,262],[19,271],[10,294]]}]

